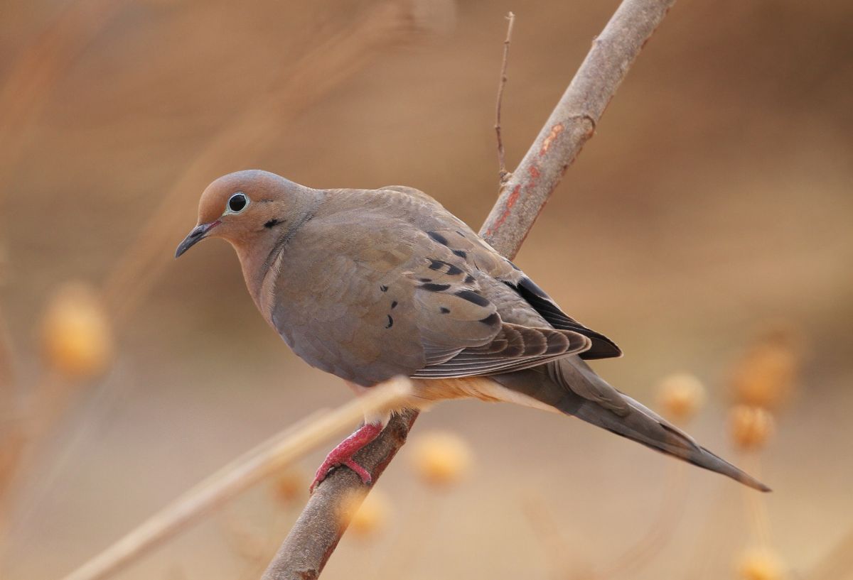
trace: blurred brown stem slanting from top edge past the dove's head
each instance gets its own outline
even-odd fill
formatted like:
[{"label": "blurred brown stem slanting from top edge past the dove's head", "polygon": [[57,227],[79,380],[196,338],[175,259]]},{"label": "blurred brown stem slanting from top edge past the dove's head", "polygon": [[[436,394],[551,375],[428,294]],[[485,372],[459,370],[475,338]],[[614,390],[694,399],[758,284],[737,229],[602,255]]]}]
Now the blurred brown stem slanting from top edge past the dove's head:
[{"label": "blurred brown stem slanting from top edge past the dove's head", "polygon": [[222,173],[221,168],[250,164],[300,111],[362,70],[383,49],[411,42],[417,23],[410,4],[377,2],[348,26],[316,35],[317,42],[293,66],[282,69],[269,91],[247,100],[235,118],[223,123],[176,177],[104,281],[104,301],[115,324],[125,322],[171,264],[173,247],[184,235],[198,194]]}]

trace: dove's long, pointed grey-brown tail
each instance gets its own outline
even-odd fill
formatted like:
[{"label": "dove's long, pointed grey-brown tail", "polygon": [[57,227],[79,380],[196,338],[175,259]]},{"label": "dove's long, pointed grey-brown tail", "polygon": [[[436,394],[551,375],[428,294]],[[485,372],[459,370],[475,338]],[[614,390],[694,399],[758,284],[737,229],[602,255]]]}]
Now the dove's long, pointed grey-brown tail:
[{"label": "dove's long, pointed grey-brown tail", "polygon": [[753,489],[770,491],[767,485],[708,451],[663,417],[612,388],[582,359],[567,357],[542,367],[492,378],[504,387],[529,395],[612,433],[679,457],[700,468],[727,475]]}]

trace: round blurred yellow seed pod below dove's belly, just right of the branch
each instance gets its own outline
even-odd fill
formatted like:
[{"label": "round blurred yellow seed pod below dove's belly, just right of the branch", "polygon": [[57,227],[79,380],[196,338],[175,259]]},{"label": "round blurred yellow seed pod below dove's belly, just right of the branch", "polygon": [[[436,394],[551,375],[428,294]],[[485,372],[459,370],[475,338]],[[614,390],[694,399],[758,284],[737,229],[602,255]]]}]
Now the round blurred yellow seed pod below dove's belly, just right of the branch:
[{"label": "round blurred yellow seed pod below dove's belly, just right of the branch", "polygon": [[415,470],[428,485],[456,484],[471,467],[471,449],[456,434],[438,431],[420,434],[410,448]]}]

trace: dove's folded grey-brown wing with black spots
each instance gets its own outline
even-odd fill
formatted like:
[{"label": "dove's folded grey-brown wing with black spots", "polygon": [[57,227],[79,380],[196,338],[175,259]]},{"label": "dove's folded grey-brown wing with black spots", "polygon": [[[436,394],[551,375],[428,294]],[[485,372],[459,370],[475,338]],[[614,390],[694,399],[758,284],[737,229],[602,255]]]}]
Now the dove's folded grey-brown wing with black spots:
[{"label": "dove's folded grey-brown wing with black spots", "polygon": [[406,187],[335,192],[280,262],[270,324],[310,365],[363,386],[522,370],[597,340],[514,290],[518,268]]}]

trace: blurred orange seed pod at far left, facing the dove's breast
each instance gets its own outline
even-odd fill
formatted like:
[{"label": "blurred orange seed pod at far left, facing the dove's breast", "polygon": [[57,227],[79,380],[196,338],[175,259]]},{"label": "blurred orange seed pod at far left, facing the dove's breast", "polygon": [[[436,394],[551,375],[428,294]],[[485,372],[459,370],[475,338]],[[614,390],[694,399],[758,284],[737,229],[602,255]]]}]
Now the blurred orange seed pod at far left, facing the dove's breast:
[{"label": "blurred orange seed pod at far left, facing the dove's breast", "polygon": [[95,289],[68,283],[55,291],[42,321],[42,345],[48,365],[67,379],[88,379],[107,368],[113,334]]}]

